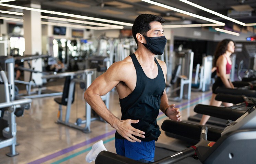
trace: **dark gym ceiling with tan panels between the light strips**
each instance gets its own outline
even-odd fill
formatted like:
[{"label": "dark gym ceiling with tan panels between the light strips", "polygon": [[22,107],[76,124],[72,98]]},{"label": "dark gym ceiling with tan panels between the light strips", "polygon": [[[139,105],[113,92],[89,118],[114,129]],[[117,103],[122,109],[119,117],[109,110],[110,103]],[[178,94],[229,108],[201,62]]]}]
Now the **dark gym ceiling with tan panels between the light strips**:
[{"label": "dark gym ceiling with tan panels between the light strips", "polygon": [[[180,0],[154,0],[155,2],[165,4],[177,9],[181,9],[193,14],[211,18],[232,27],[234,24],[238,28],[242,25],[231,22],[209,12],[198,9]],[[256,3],[255,0],[189,0],[195,4],[203,6],[217,13],[232,17],[245,24],[256,23]],[[16,6],[28,6],[31,0],[16,0],[5,2]],[[150,4],[141,0],[37,0],[33,3],[41,4],[41,9],[48,11],[56,11],[70,13],[75,15],[90,16],[95,18],[103,18],[116,20],[120,22],[133,23],[134,19],[142,13],[150,13],[163,16],[166,20],[164,25],[180,25],[180,24],[207,24],[211,23],[206,20],[188,16],[170,9],[166,9],[157,5]],[[20,9],[14,9],[6,6],[0,6],[0,10],[22,12]],[[230,15],[228,15],[228,13]],[[2,14],[1,14],[2,15]],[[6,15],[6,14],[5,14]],[[61,18],[69,18],[61,15],[42,13],[44,16],[53,16]],[[85,20],[72,18],[77,20]],[[97,22],[92,21],[91,22]],[[99,22],[100,23],[100,22]],[[89,25],[92,26],[92,25]],[[125,26],[125,28],[131,28]]]}]

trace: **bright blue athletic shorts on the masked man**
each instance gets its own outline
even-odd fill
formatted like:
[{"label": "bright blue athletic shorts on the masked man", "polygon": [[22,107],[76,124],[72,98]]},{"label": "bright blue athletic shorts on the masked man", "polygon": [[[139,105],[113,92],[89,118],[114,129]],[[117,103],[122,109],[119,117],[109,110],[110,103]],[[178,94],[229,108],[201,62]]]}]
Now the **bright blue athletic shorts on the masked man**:
[{"label": "bright blue athletic shorts on the masked man", "polygon": [[149,142],[130,142],[126,139],[115,141],[116,153],[143,163],[154,162],[155,140]]}]

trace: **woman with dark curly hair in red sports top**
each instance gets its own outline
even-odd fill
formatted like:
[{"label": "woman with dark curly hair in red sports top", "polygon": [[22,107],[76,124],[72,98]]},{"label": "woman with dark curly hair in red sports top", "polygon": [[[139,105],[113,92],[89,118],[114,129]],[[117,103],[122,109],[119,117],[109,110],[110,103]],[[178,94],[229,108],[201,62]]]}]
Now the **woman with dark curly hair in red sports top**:
[{"label": "woman with dark curly hair in red sports top", "polygon": [[[230,56],[232,53],[235,52],[235,43],[231,39],[224,39],[218,43],[217,49],[214,53],[214,63],[213,66],[217,68],[217,79],[215,83],[212,85],[212,97],[210,105],[212,106],[221,106],[221,101],[215,100],[216,97],[216,88],[220,87],[227,87],[227,88],[234,88],[234,85],[230,81],[230,71],[232,62]],[[226,107],[232,106],[231,103],[223,102],[223,105]],[[200,121],[200,124],[205,125],[206,122],[209,120],[209,115],[203,115]]]}]

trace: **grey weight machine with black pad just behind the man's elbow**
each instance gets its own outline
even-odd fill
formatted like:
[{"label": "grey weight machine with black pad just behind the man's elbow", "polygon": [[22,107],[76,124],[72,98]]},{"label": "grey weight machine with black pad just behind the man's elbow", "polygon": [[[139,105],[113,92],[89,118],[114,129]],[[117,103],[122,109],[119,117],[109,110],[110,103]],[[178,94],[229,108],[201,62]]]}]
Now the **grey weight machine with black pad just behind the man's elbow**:
[{"label": "grey weight machine with black pad just behind the man's elbow", "polygon": [[[92,61],[95,61],[95,60],[96,59]],[[109,67],[109,58],[103,59],[103,61],[104,61],[105,70],[106,70]],[[69,122],[69,118],[71,114],[71,105],[74,101],[75,83],[80,83],[80,86],[82,88],[87,89],[92,83],[93,74],[96,74],[96,71],[103,71],[102,67],[103,66],[97,65],[97,68],[85,69],[85,70],[80,70],[75,72],[64,72],[64,73],[58,73],[55,75],[54,74],[45,75],[42,77],[43,79],[66,77],[62,97],[54,99],[59,104],[58,120],[56,121],[56,123],[63,124],[75,129],[79,129],[84,133],[90,133],[91,132],[90,125],[92,121],[95,121],[95,120],[104,121],[102,118],[98,117],[98,115],[97,117],[92,118],[91,106],[87,102],[85,102],[86,120],[77,118],[75,123]],[[107,93],[104,96],[101,96],[101,98],[103,101],[105,101],[106,107],[109,108],[109,93]],[[67,106],[65,120],[62,119],[63,118],[62,105]],[[85,124],[85,126],[82,127],[81,126],[82,124]]]}]

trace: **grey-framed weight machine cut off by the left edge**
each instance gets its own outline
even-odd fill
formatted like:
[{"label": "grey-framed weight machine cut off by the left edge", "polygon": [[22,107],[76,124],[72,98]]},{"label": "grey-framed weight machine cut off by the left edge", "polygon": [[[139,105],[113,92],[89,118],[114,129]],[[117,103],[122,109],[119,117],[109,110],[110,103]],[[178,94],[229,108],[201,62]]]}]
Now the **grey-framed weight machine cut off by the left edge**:
[{"label": "grey-framed weight machine cut off by the left edge", "polygon": [[[8,126],[2,130],[0,138],[0,149],[9,146],[10,152],[7,156],[19,155],[15,150],[16,143],[16,116],[23,114],[24,109],[30,109],[31,99],[24,99],[14,93],[14,59],[8,56],[0,57],[0,121]],[[5,71],[7,72],[7,76]]]}]

